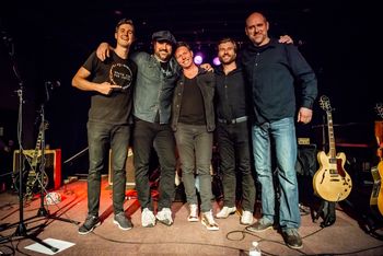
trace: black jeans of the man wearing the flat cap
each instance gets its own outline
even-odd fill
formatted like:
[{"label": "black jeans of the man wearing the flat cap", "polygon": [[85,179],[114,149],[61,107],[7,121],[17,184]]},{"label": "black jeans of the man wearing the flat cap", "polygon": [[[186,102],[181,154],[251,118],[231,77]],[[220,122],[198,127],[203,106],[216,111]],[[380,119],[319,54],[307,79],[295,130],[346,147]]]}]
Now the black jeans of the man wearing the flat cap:
[{"label": "black jeans of the man wearing the flat cap", "polygon": [[170,125],[136,119],[134,131],[134,161],[136,189],[141,208],[153,210],[149,184],[150,152],[156,151],[161,166],[159,210],[171,208],[175,193],[175,141]]}]

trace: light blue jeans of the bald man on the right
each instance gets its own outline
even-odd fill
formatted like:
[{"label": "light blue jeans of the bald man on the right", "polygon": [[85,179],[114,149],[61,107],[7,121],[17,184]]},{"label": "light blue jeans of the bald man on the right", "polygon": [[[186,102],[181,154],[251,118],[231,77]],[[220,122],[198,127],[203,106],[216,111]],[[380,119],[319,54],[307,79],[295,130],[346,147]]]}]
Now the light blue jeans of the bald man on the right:
[{"label": "light blue jeans of the bald man on the right", "polygon": [[[271,149],[275,146],[275,149]],[[298,229],[301,223],[295,172],[297,138],[293,118],[253,126],[254,162],[262,186],[263,218],[276,219],[271,152],[276,154],[280,190],[279,225],[281,230]]]}]

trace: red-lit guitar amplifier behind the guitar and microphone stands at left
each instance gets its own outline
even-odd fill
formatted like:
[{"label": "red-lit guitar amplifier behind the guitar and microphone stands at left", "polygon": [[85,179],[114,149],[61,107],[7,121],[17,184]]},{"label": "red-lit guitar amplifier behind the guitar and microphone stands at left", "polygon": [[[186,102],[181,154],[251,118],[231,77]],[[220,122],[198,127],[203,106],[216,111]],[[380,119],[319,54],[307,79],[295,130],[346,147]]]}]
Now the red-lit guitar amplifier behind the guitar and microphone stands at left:
[{"label": "red-lit guitar amplifier behind the guitar and microphone stands at left", "polygon": [[[25,164],[25,170],[30,168],[25,158],[28,158],[30,161],[33,158],[35,150],[24,150],[22,155],[22,161]],[[20,150],[13,151],[13,173],[16,174],[20,168],[19,163]],[[48,185],[47,189],[58,189],[61,186],[61,149],[56,150],[45,150],[45,173],[48,175]],[[38,168],[38,165],[37,165]],[[38,170],[37,170],[38,171]],[[16,176],[16,175],[15,175]]]}]

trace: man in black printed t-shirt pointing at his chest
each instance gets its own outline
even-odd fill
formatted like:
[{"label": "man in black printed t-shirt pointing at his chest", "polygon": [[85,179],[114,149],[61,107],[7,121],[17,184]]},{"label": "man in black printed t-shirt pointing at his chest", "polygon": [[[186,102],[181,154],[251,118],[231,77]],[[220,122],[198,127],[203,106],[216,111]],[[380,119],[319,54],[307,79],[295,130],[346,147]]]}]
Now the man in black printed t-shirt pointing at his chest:
[{"label": "man in black printed t-shirt pointing at his chest", "polygon": [[128,59],[135,39],[131,20],[118,22],[115,32],[117,45],[111,57],[101,61],[93,53],[72,80],[73,86],[91,91],[88,143],[90,168],[88,176],[88,217],[79,234],[88,234],[100,225],[98,219],[101,172],[106,164],[108,150],[113,151],[113,222],[121,230],[132,224],[124,212],[125,164],[130,139],[129,117],[132,106],[132,85],[137,66]]}]

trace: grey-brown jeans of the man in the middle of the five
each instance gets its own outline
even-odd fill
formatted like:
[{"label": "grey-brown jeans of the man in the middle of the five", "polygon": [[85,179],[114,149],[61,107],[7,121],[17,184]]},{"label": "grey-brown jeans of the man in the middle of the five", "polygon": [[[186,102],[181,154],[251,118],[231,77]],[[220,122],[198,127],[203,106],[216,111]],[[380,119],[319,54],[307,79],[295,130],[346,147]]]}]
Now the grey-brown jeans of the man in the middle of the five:
[{"label": "grey-brown jeans of the man in the middle of the five", "polygon": [[211,210],[211,175],[212,132],[206,126],[177,125],[175,140],[182,168],[182,179],[185,186],[186,200],[189,205],[198,205],[195,171],[199,176],[201,211]]}]

